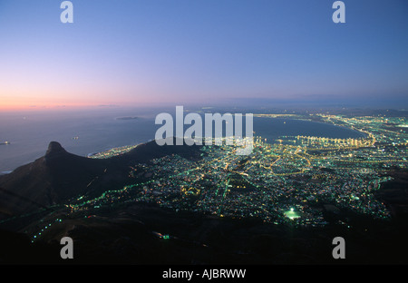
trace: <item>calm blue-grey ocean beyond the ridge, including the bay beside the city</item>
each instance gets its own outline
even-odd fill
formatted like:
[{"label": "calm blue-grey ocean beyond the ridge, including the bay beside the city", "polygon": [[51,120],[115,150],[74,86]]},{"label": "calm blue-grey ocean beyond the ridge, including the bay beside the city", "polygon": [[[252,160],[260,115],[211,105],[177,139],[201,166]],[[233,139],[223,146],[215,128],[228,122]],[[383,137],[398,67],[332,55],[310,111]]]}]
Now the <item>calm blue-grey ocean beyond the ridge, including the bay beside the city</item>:
[{"label": "calm blue-grey ocean beyond the ridge, including the bay beside the city", "polygon": [[[49,110],[0,112],[0,172],[42,157],[49,142],[60,142],[66,151],[81,156],[114,147],[134,145],[154,139],[161,125],[154,123],[160,112],[174,109]],[[184,114],[187,114],[185,112]],[[186,126],[188,128],[189,126]],[[322,122],[254,117],[256,135],[274,142],[279,136],[309,135],[328,138],[358,138],[364,135]]]}]

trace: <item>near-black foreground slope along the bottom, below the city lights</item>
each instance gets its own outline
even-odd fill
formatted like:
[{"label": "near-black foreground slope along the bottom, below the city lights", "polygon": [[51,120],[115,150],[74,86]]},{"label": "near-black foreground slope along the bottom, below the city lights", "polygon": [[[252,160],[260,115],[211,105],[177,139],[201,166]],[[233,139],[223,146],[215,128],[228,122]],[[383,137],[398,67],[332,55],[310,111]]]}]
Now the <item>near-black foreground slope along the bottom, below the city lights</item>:
[{"label": "near-black foreground slope along the bottom, below the city lights", "polygon": [[[2,230],[2,264],[406,264],[407,228],[398,221],[360,220],[364,228],[294,228],[257,220],[180,214],[129,205],[91,218],[65,220],[44,239]],[[160,237],[168,235],[168,239]],[[60,258],[69,236],[74,259]],[[333,259],[332,240],[346,241],[346,259]]]}]

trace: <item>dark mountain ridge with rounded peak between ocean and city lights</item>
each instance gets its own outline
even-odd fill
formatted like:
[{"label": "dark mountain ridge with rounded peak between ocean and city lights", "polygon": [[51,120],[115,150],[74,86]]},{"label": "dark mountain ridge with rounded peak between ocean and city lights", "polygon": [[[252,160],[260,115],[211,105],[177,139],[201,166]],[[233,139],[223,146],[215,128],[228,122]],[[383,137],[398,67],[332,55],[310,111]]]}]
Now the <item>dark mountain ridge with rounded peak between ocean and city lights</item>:
[{"label": "dark mountain ridge with rounded peak between ocean and city lights", "polygon": [[168,154],[199,158],[197,146],[146,142],[108,159],[92,159],[65,151],[50,142],[43,157],[0,176],[0,220],[38,208],[61,204],[79,195],[121,189],[128,184],[129,168]]}]

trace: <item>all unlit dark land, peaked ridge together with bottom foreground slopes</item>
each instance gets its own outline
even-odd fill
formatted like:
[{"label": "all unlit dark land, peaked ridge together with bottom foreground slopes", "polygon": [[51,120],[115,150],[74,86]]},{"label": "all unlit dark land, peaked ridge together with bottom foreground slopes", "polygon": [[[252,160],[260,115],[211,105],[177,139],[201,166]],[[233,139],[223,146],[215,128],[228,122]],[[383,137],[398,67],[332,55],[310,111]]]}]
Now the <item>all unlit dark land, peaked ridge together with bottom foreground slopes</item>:
[{"label": "all unlit dark land, peaked ridge together with bottom foreground slopes", "polygon": [[[0,177],[1,264],[407,264],[407,173],[395,171],[377,197],[393,210],[392,220],[342,211],[328,219],[351,225],[320,228],[266,224],[176,212],[154,204],[127,203],[76,213],[55,222],[41,239],[32,231],[66,216],[64,201],[78,194],[121,188],[125,169],[152,156],[199,158],[195,147],[146,144],[120,158],[91,160],[63,150],[57,142],[43,158]],[[107,169],[107,170],[106,170]],[[109,172],[109,173],[106,173]],[[98,178],[96,178],[98,177]],[[96,180],[95,180],[96,179]],[[94,180],[92,190],[88,184]],[[332,221],[336,223],[336,221]],[[60,239],[73,239],[73,259],[61,259]],[[343,237],[345,259],[333,259],[332,240]]]}]

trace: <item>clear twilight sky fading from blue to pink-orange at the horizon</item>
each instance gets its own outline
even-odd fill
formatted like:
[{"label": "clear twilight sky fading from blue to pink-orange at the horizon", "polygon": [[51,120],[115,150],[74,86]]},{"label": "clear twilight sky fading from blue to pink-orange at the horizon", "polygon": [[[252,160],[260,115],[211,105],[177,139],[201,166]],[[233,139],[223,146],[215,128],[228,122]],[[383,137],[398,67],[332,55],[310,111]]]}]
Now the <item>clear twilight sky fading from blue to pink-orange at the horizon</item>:
[{"label": "clear twilight sky fading from blue to pink-orange at the horizon", "polygon": [[0,111],[393,102],[408,108],[408,1],[0,0]]}]

